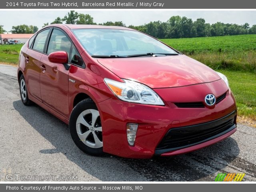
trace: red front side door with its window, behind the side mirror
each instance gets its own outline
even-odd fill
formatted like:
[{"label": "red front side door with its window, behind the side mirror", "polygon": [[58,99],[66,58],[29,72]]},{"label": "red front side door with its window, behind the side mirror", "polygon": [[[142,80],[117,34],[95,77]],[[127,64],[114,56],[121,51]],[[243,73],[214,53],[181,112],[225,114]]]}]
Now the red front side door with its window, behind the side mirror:
[{"label": "red front side door with its window, behind the side mirror", "polygon": [[41,65],[45,70],[40,76],[40,90],[42,102],[69,118],[68,110],[68,73],[63,64],[52,63],[48,60],[48,54],[56,51],[65,51],[70,55],[72,42],[59,28],[53,28],[46,54],[42,55]]}]

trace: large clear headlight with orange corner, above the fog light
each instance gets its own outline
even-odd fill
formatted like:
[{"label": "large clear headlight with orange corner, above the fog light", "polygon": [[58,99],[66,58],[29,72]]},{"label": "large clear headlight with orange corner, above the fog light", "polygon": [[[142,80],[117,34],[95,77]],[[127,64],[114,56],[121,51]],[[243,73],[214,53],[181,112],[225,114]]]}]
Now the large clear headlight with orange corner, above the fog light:
[{"label": "large clear headlight with orange corner, above the fog light", "polygon": [[148,86],[126,79],[123,81],[118,82],[104,78],[106,85],[120,100],[140,104],[164,105],[158,94]]}]

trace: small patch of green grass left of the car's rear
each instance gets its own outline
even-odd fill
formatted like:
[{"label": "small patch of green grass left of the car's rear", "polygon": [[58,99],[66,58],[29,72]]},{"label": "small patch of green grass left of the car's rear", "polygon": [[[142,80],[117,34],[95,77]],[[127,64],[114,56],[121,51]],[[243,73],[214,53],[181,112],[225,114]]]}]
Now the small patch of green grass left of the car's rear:
[{"label": "small patch of green grass left of the car's rear", "polygon": [[22,44],[0,45],[0,62],[17,64],[21,48]]}]

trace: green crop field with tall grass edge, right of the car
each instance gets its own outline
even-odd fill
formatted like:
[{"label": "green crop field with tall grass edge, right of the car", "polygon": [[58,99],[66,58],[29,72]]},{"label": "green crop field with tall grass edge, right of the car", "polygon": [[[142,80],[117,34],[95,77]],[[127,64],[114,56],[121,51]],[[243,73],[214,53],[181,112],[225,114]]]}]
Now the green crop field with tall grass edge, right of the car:
[{"label": "green crop field with tall grass edge, right of the car", "polygon": [[256,72],[256,35],[162,39],[176,50],[210,66]]}]

